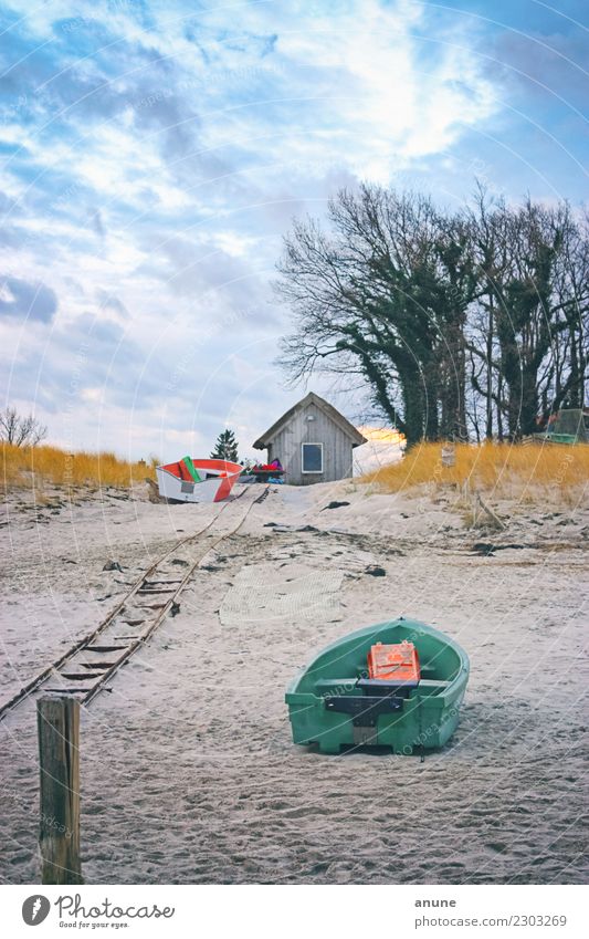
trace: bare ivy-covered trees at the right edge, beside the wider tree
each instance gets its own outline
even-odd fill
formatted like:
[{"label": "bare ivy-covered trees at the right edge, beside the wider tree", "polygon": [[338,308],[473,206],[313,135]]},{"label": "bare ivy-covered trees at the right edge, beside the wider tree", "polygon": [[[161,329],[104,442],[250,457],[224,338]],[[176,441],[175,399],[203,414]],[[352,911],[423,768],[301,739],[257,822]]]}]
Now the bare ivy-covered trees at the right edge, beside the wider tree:
[{"label": "bare ivy-covered trees at the right edge, beside the wider tree", "polygon": [[[467,345],[486,436],[514,439],[562,404],[582,407],[588,363],[589,240],[566,202],[473,210],[481,291]],[[495,409],[495,420],[493,411]]]}]

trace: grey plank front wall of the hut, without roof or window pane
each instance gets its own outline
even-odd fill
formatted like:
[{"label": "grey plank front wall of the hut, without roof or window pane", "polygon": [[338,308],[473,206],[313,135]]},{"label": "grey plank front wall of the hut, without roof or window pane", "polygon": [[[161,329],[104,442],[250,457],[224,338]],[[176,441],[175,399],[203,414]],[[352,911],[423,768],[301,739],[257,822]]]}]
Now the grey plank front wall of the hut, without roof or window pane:
[{"label": "grey plank front wall of the hut, without roof or window pane", "polygon": [[[314,420],[307,420],[314,417]],[[302,444],[323,444],[323,472],[303,473]],[[309,486],[347,479],[353,471],[351,440],[337,424],[314,404],[295,411],[288,424],[276,434],[267,448],[267,459],[280,459],[286,470],[285,482]]]}]

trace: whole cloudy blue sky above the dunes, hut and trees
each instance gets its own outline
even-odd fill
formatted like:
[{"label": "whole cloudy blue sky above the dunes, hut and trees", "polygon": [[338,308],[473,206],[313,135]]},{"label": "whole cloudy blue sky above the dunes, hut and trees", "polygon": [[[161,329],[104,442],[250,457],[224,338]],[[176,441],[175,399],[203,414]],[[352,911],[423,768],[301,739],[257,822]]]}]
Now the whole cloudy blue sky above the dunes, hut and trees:
[{"label": "whole cloudy blue sky above the dunes, hut and trees", "polygon": [[[3,401],[49,440],[240,456],[291,387],[293,219],[361,181],[587,198],[578,0],[0,0]],[[369,417],[369,415],[368,415]]]}]

